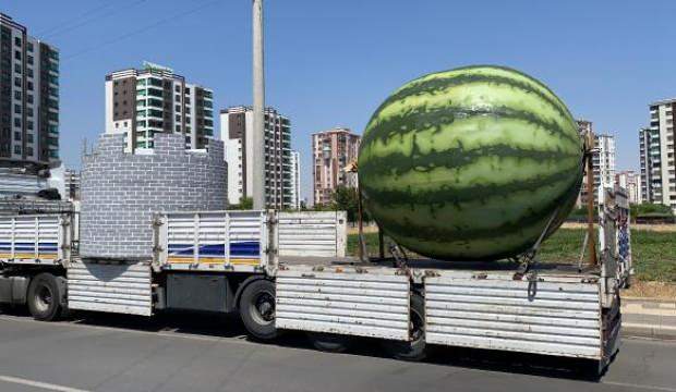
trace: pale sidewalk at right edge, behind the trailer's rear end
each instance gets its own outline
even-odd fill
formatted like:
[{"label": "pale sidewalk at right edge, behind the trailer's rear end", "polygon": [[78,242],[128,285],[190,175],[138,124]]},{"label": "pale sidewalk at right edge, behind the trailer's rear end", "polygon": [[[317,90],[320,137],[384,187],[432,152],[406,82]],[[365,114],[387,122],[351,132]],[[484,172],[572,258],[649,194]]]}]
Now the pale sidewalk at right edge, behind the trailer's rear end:
[{"label": "pale sidewalk at right edge, behind the trailer's rear end", "polygon": [[676,299],[623,297],[621,301],[623,335],[676,340]]}]

